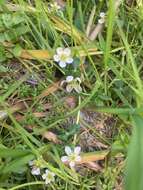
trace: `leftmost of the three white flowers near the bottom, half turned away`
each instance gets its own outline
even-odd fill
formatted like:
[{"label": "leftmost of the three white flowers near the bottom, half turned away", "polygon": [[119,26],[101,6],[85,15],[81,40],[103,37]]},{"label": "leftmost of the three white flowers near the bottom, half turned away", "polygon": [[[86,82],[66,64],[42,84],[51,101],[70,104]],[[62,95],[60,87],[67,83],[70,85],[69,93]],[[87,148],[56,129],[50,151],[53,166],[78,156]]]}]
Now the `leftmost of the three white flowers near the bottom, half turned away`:
[{"label": "leftmost of the three white flowers near the bottom, half turned away", "polygon": [[32,175],[40,175],[40,169],[43,167],[42,159],[31,160],[29,166],[31,166]]}]

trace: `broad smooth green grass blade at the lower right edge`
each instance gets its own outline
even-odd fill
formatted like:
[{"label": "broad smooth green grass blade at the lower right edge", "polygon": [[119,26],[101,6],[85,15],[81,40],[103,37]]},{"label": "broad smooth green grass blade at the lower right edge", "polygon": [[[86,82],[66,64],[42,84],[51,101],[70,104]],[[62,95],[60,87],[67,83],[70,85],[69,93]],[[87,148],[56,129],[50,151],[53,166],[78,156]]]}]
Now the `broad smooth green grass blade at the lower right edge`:
[{"label": "broad smooth green grass blade at the lower right edge", "polygon": [[143,118],[133,116],[133,136],[128,150],[125,190],[143,189]]}]

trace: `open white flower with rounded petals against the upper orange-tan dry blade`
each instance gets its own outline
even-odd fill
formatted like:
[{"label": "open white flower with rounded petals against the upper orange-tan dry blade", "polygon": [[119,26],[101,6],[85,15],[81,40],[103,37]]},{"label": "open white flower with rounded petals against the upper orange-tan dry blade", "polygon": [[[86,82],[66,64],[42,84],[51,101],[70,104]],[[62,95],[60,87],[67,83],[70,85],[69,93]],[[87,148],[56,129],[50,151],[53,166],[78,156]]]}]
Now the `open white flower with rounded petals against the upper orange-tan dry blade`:
[{"label": "open white flower with rounded petals against the upper orange-tan dry blade", "polygon": [[71,64],[73,62],[71,50],[69,48],[62,47],[57,48],[56,54],[54,55],[54,61],[62,68],[66,67],[67,64]]}]

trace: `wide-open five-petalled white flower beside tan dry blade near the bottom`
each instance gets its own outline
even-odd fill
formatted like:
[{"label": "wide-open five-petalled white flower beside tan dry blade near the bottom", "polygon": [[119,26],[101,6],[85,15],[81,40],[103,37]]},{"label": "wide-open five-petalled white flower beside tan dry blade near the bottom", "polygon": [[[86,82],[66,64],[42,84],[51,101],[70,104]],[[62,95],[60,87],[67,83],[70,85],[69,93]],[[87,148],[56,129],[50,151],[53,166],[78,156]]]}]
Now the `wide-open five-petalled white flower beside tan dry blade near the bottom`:
[{"label": "wide-open five-petalled white flower beside tan dry blade near the bottom", "polygon": [[69,146],[65,147],[65,152],[67,156],[62,156],[61,161],[64,163],[68,163],[70,168],[74,168],[76,162],[81,161],[80,152],[81,147],[77,146],[72,150]]}]

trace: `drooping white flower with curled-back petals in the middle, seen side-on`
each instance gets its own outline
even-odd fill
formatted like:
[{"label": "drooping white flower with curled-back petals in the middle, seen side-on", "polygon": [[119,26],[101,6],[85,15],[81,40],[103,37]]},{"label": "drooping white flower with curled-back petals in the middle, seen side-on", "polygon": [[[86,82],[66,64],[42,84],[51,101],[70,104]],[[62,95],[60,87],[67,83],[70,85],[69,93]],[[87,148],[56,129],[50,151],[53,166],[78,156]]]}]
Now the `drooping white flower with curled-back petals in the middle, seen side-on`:
[{"label": "drooping white flower with curled-back petals in the middle, seen side-on", "polygon": [[74,79],[73,76],[67,76],[66,80],[63,80],[61,82],[61,86],[63,86],[63,84],[66,84],[66,91],[69,93],[73,90],[75,90],[77,93],[80,93],[82,91],[82,88],[80,86],[81,79],[79,77],[76,77]]}]

